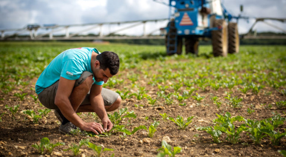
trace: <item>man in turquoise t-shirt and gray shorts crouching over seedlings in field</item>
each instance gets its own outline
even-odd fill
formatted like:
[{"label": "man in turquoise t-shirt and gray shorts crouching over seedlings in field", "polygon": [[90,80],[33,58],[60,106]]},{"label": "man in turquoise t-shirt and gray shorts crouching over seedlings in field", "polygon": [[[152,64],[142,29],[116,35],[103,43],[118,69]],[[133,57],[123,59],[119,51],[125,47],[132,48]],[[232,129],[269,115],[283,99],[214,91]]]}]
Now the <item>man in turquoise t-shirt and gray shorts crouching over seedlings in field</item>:
[{"label": "man in turquoise t-shirt and gray shorts crouching over seedlings in field", "polygon": [[[55,110],[62,122],[61,133],[76,127],[95,134],[112,129],[107,111],[117,109],[121,98],[102,85],[117,74],[119,64],[116,53],[81,47],[62,52],[45,68],[36,82],[36,93],[45,107]],[[103,127],[100,123],[84,122],[77,112],[95,112]]]}]

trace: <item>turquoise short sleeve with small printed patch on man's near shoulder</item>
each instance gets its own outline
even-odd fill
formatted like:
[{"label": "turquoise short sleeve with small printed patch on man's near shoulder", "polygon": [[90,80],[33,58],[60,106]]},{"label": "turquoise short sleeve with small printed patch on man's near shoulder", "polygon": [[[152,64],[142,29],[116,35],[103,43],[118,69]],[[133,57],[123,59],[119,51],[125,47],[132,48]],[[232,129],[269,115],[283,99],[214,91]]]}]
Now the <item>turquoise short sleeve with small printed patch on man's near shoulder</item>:
[{"label": "turquoise short sleeve with small printed patch on man's near shoulder", "polygon": [[69,59],[63,63],[61,77],[69,80],[76,80],[80,77],[83,71],[84,69],[78,62],[73,59]]}]

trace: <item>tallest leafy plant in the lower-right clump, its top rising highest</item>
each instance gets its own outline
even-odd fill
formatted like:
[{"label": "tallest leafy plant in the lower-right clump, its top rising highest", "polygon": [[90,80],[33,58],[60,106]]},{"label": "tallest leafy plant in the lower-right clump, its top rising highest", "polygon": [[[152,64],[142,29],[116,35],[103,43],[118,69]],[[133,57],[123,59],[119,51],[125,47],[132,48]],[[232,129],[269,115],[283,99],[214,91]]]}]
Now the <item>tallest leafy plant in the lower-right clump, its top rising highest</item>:
[{"label": "tallest leafy plant in the lower-right clump, its top rising highest", "polygon": [[214,129],[226,133],[226,140],[230,143],[236,144],[240,138],[239,134],[244,131],[246,127],[245,124],[242,124],[237,129],[235,129],[233,122],[243,121],[244,118],[241,116],[231,118],[231,114],[229,112],[226,112],[225,116],[219,114],[216,115],[218,118],[213,120],[213,122],[217,123],[216,126],[214,126]]}]

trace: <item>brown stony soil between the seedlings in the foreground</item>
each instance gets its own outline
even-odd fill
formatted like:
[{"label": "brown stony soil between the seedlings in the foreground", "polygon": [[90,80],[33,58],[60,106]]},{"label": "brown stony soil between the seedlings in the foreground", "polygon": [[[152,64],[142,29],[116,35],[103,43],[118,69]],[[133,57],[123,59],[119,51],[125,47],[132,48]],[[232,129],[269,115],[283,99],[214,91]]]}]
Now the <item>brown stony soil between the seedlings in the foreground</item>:
[{"label": "brown stony soil between the seedlings in the foreground", "polygon": [[[121,76],[125,74],[122,72]],[[277,151],[286,149],[286,139],[282,138],[279,146],[273,146],[268,138],[264,138],[259,145],[254,145],[250,137],[245,133],[241,133],[240,141],[237,144],[228,143],[225,140],[225,134],[220,137],[221,143],[213,143],[210,134],[205,131],[198,131],[195,128],[199,126],[211,126],[212,120],[216,119],[217,114],[225,114],[230,112],[232,116],[241,115],[245,118],[262,120],[273,116],[273,113],[281,114],[285,117],[285,109],[277,109],[275,101],[286,100],[284,95],[281,95],[277,90],[270,87],[264,87],[257,95],[248,91],[243,94],[237,88],[232,88],[232,95],[243,98],[241,108],[233,108],[228,105],[228,101],[224,98],[225,91],[228,88],[219,88],[213,90],[206,88],[206,90],[196,91],[205,98],[197,103],[192,97],[184,101],[185,106],[179,106],[179,102],[174,101],[172,105],[166,105],[164,99],[157,100],[157,103],[152,106],[148,104],[147,98],[137,100],[135,97],[128,98],[122,101],[120,108],[128,107],[128,111],[134,111],[137,115],[136,119],[124,119],[120,124],[126,125],[129,130],[140,125],[147,127],[154,122],[160,121],[157,131],[154,133],[153,138],[148,138],[145,130],[138,130],[133,135],[122,137],[122,133],[114,133],[110,137],[86,137],[81,135],[64,135],[59,133],[59,121],[51,111],[46,117],[39,120],[39,124],[34,124],[32,120],[23,114],[23,110],[45,109],[40,106],[39,101],[34,101],[30,95],[35,95],[34,89],[37,78],[31,80],[30,85],[26,87],[18,86],[7,95],[1,93],[0,113],[6,112],[2,116],[0,123],[0,156],[39,156],[38,151],[32,147],[33,144],[40,142],[43,137],[48,137],[51,143],[64,142],[65,146],[58,146],[54,148],[51,154],[44,154],[43,156],[73,156],[72,151],[64,151],[68,145],[72,143],[78,144],[81,139],[90,139],[90,142],[96,145],[101,145],[104,148],[114,149],[113,151],[106,151],[102,156],[156,156],[157,149],[161,147],[163,136],[169,136],[170,140],[167,141],[171,146],[181,146],[182,152],[176,156],[281,156]],[[123,78],[124,79],[124,78]],[[126,79],[127,80],[127,79]],[[111,90],[124,90],[124,87],[130,85],[131,81],[127,80],[124,85],[116,85]],[[148,90],[147,94],[156,98],[157,86],[151,86],[144,81],[135,81],[135,84],[144,86]],[[28,93],[23,101],[14,96],[14,93],[20,92],[20,88]],[[108,88],[108,87],[107,87]],[[183,88],[183,87],[182,87]],[[136,91],[136,89],[131,89]],[[180,89],[181,91],[182,89]],[[173,92],[172,90],[166,92]],[[192,94],[195,95],[195,92]],[[210,99],[212,96],[219,96],[222,106],[217,108],[213,101]],[[20,104],[18,112],[12,116],[11,112],[5,108],[5,105],[10,107]],[[252,114],[247,113],[247,108],[253,105],[252,109],[255,111]],[[265,108],[260,104],[272,104],[271,108]],[[138,105],[138,106],[137,106]],[[135,107],[137,106],[137,107]],[[119,108],[119,109],[120,109]],[[117,109],[116,111],[119,111]],[[114,112],[114,111],[113,111]],[[110,113],[113,113],[110,112]],[[169,114],[169,117],[177,117],[181,115],[185,119],[194,116],[192,123],[185,130],[179,130],[179,127],[172,121],[163,121],[160,113]],[[88,113],[80,115],[86,121],[98,119],[94,118]],[[148,117],[148,118],[147,118]],[[100,122],[100,121],[98,121]],[[237,126],[238,124],[236,124]],[[285,128],[285,123],[280,126]],[[194,137],[198,134],[199,137]],[[81,153],[78,156],[93,156],[92,149],[83,146]]]}]

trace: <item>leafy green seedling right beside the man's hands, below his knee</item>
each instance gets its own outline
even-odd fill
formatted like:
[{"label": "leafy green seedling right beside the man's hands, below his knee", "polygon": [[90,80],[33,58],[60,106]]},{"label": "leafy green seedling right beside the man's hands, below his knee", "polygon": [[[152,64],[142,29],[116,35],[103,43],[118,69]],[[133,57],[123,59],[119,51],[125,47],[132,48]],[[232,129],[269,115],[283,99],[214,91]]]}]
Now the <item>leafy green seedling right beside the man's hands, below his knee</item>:
[{"label": "leafy green seedling right beside the man's hands, below his knee", "polygon": [[[137,115],[134,114],[134,111],[127,112],[127,110],[128,110],[127,107],[122,108],[119,110],[119,112],[114,112],[113,114],[108,114],[108,117],[114,125],[118,125],[123,118],[134,118],[135,119],[137,117]],[[126,113],[126,115],[123,116],[123,114],[125,114],[125,113]]]}]

